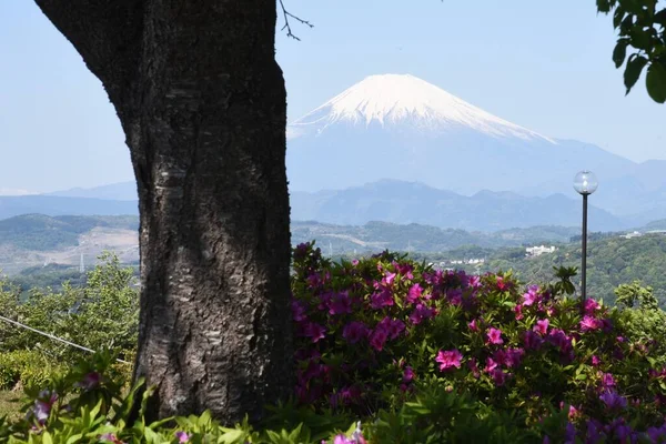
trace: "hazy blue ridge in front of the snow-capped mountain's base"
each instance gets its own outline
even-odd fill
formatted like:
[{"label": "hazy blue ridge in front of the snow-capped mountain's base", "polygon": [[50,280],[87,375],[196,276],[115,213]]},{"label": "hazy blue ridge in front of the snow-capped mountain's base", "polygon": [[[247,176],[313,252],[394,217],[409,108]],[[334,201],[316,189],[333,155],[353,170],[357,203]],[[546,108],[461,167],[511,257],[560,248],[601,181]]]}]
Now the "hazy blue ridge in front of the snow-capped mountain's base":
[{"label": "hazy blue ridge in front of the snow-capped mountain's base", "polygon": [[[292,192],[292,219],[341,225],[370,221],[420,223],[466,231],[500,231],[535,225],[581,225],[581,201],[563,194],[526,198],[512,192],[481,191],[472,196],[418,182],[383,180],[345,190]],[[592,231],[632,226],[594,205]]]}]

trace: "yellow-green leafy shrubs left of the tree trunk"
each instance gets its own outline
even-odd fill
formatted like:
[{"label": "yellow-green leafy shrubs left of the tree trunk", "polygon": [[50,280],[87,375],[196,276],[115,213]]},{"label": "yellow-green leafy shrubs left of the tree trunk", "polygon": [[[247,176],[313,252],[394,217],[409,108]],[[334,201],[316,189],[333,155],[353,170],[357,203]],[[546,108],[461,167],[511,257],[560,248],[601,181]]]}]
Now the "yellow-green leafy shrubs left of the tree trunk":
[{"label": "yellow-green leafy shrubs left of the tree trunk", "polygon": [[[48,334],[91,350],[114,349],[131,360],[137,346],[139,296],[133,270],[105,254],[88,274],[87,285],[65,283],[60,292],[33,289],[26,301],[20,289],[0,282],[0,313]],[[19,381],[44,380],[52,366],[71,364],[82,352],[29,330],[0,322],[0,389]]]}]

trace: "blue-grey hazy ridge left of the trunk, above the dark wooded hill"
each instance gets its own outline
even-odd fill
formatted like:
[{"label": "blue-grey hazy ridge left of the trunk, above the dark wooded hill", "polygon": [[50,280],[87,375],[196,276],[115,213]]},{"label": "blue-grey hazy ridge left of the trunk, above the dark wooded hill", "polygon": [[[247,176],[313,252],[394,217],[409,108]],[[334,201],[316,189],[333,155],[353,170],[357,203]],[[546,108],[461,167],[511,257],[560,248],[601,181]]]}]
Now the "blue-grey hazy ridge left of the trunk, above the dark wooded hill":
[{"label": "blue-grey hazy ridge left of the trunk, above the dark wooded hill", "polygon": [[137,201],[113,201],[56,195],[0,196],[0,219],[21,214],[120,215],[139,214]]}]

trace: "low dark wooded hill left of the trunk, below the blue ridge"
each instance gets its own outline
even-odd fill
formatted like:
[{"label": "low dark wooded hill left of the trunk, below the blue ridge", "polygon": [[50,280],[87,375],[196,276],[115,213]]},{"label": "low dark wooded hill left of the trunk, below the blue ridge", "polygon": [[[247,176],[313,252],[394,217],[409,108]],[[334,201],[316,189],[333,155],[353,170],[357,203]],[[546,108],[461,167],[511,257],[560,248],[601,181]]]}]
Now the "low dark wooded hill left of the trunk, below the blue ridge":
[{"label": "low dark wooded hill left of the trunk, below the blue ridge", "polygon": [[0,220],[0,245],[20,250],[58,250],[77,245],[79,235],[97,226],[135,231],[139,218],[23,214]]}]

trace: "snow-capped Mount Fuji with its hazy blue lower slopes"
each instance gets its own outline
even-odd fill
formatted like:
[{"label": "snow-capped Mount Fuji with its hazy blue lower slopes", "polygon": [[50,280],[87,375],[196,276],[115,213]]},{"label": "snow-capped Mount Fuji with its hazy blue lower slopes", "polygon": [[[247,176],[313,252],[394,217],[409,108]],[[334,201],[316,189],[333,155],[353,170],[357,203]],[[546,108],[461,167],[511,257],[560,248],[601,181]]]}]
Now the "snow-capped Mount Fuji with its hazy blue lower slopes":
[{"label": "snow-capped Mount Fuji with its hazy blue lower slopes", "polygon": [[511,123],[408,74],[371,75],[292,122],[286,164],[292,191],[393,179],[467,195],[571,194],[582,169],[608,183],[636,167],[593,144]]}]

